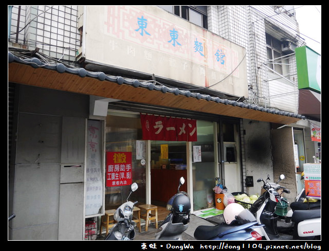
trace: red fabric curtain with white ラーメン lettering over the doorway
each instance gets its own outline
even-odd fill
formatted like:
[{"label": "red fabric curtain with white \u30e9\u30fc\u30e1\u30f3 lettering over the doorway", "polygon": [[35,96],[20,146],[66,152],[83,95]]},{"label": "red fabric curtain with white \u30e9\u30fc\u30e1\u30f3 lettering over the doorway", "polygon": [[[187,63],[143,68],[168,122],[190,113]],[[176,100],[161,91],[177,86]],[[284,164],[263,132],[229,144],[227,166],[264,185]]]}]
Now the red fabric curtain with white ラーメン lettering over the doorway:
[{"label": "red fabric curtain with white \u30e9\u30fc\u30e1\u30f3 lettering over the doorway", "polygon": [[143,139],[197,141],[196,120],[141,114]]}]

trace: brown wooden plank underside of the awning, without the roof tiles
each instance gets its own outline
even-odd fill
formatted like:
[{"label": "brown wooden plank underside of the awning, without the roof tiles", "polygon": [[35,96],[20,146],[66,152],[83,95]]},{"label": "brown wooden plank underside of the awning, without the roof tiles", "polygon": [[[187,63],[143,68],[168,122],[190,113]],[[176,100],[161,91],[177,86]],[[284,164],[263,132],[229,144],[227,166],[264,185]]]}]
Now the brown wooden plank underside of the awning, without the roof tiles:
[{"label": "brown wooden plank underside of the awning, without the roof tiles", "polygon": [[195,112],[211,113],[280,124],[296,123],[300,118],[233,106],[205,99],[197,99],[173,93],[163,93],[144,87],[134,87],[97,78],[80,77],[71,73],[59,73],[43,67],[12,62],[8,64],[8,81],[38,87],[57,89],[104,98],[113,98],[150,105],[167,106]]}]

